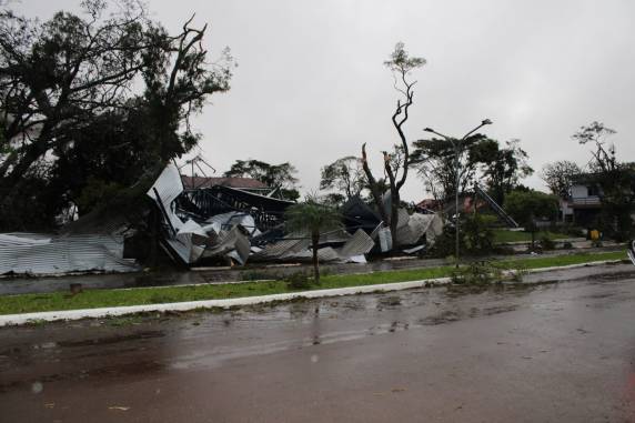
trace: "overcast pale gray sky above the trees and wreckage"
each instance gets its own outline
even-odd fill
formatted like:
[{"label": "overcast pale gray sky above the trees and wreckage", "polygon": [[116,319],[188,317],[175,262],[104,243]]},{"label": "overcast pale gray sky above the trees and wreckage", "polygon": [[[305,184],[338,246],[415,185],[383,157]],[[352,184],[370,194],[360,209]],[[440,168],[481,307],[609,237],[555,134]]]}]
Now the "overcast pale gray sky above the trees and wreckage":
[{"label": "overcast pale gray sky above the trees and wreckage", "polygon": [[[22,0],[27,16],[78,10],[79,0]],[[360,154],[381,174],[380,151],[397,141],[396,93],[383,67],[403,41],[427,64],[416,71],[406,133],[432,127],[463,134],[482,119],[500,141],[521,139],[537,171],[555,160],[588,161],[571,135],[601,120],[618,155],[635,160],[635,1],[631,0],[150,0],[155,20],[177,31],[193,12],[211,24],[212,54],[239,62],[232,89],[195,124],[219,172],[236,159],[291,161],[303,191],[320,168]],[[525,183],[543,188],[537,177]],[[412,173],[403,198],[424,197]]]}]

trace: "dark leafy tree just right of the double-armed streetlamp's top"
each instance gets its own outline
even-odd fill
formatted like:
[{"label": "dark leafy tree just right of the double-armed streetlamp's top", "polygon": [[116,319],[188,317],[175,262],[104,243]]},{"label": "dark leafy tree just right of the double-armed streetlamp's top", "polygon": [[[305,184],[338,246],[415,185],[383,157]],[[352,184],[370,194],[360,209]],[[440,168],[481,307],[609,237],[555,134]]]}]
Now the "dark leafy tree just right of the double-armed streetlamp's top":
[{"label": "dark leafy tree just right of the double-armed streetlamp's top", "polygon": [[505,142],[504,148],[487,152],[482,157],[485,163],[483,177],[486,179],[487,190],[498,204],[505,202],[505,194],[518,184],[518,180],[531,175],[534,170],[527,164],[527,153],[521,149],[520,140]]}]

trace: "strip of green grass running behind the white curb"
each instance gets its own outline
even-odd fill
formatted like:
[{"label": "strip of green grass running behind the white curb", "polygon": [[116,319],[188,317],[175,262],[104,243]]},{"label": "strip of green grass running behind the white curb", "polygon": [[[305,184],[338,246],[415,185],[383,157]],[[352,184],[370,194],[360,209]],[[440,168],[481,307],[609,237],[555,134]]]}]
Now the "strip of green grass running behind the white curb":
[{"label": "strip of green grass running behind the white curb", "polygon": [[[505,269],[538,269],[622,259],[626,259],[624,251],[506,260],[498,261],[497,264]],[[323,276],[321,284],[314,289],[325,290],[443,278],[451,275],[452,269],[452,266],[439,266],[365,274],[327,275]],[[67,292],[4,295],[0,296],[0,314],[235,299],[286,292],[294,291],[288,286],[285,281],[268,281],[130,290],[88,290],[73,296]]]}]

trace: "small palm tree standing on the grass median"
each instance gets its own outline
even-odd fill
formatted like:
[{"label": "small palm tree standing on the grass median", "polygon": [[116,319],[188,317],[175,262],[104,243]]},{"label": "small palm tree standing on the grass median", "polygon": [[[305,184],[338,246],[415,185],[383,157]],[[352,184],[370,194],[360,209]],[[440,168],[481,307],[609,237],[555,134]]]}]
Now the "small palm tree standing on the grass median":
[{"label": "small palm tree standing on the grass median", "polygon": [[285,228],[289,232],[309,232],[311,248],[313,249],[313,279],[320,283],[320,269],[318,263],[318,245],[320,233],[342,226],[340,213],[327,205],[320,204],[314,198],[293,204],[286,209]]}]

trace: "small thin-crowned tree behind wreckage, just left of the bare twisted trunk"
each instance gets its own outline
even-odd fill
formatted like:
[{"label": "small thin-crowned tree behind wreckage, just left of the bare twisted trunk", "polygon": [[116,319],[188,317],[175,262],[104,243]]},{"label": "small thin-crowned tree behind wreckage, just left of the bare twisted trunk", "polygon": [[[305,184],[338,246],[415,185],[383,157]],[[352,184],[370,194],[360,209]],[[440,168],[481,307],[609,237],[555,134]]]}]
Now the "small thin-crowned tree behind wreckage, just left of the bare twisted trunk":
[{"label": "small thin-crowned tree behind wreckage, just left of the bare twisted trunk", "polygon": [[351,199],[359,197],[366,185],[366,175],[359,158],[347,155],[322,168],[321,190],[336,190]]}]

